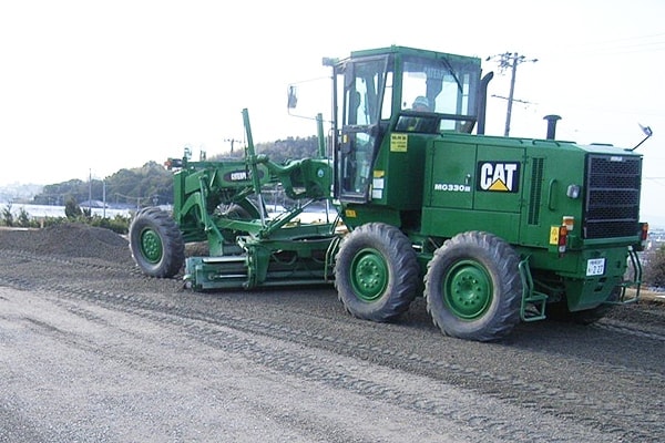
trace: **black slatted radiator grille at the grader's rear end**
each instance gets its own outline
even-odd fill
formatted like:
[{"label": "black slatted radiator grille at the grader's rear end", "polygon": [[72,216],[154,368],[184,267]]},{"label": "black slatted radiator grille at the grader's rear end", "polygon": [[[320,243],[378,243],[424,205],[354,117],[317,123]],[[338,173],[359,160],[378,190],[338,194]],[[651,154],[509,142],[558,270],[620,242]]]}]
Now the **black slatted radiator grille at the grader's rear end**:
[{"label": "black slatted radiator grille at the grader's rear end", "polygon": [[638,233],[642,158],[590,155],[586,163],[584,237]]}]

